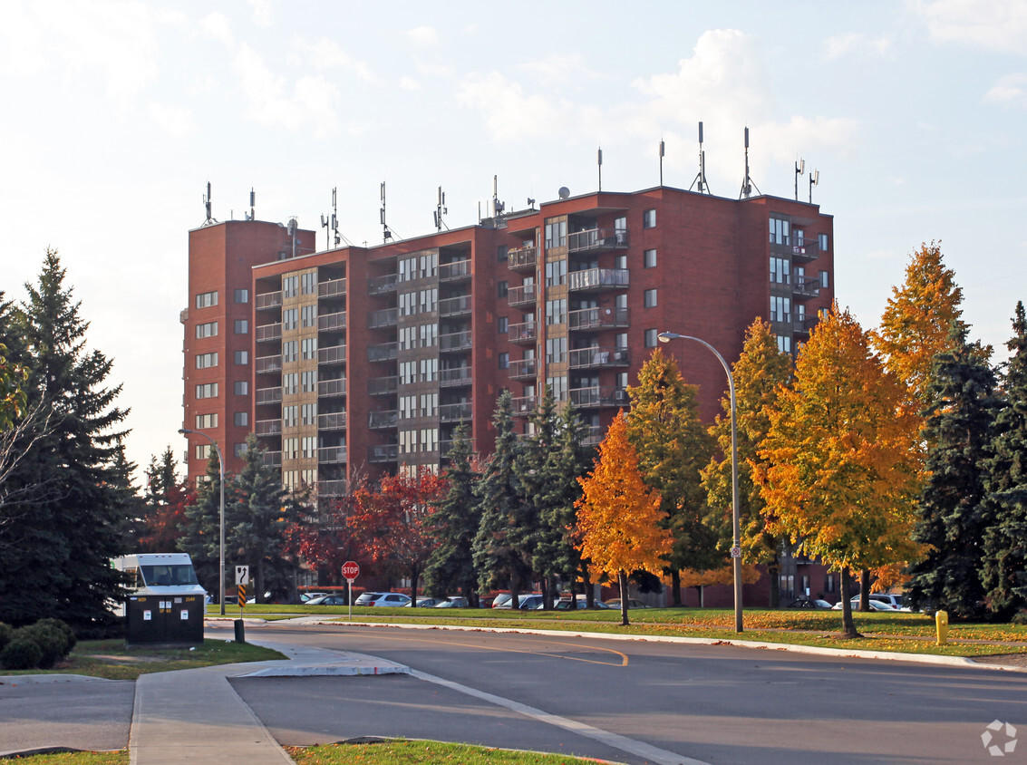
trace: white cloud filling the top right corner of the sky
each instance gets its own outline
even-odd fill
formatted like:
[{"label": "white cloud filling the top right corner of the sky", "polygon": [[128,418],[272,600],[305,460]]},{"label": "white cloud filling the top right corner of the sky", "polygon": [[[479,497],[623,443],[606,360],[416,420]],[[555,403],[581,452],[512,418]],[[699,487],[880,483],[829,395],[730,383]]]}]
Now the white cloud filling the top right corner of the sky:
[{"label": "white cloud filling the top right corner of the sky", "polygon": [[911,7],[940,42],[1027,53],[1027,3],[1023,0],[915,0]]}]

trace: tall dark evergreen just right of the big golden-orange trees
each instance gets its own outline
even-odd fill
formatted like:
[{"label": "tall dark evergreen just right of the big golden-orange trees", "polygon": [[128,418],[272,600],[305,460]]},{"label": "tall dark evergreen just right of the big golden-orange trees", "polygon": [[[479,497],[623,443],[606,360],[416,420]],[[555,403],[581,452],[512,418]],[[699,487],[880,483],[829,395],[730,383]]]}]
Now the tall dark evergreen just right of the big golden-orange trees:
[{"label": "tall dark evergreen just right of the big golden-orange trees", "polygon": [[914,608],[931,605],[955,618],[982,613],[979,569],[984,534],[991,526],[985,465],[999,407],[995,373],[966,335],[962,322],[953,326],[954,349],[938,354],[927,388],[924,435],[931,448],[913,535],[926,553],[911,567],[907,590]]}]

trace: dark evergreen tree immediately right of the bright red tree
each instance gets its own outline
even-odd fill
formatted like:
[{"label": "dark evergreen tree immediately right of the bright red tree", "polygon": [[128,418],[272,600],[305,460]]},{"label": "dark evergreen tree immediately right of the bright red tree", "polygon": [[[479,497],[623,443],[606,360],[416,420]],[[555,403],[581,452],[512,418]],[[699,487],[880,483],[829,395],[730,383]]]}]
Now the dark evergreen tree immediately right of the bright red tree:
[{"label": "dark evergreen tree immediately right of the bright red tree", "polygon": [[478,570],[472,543],[482,523],[481,507],[474,499],[478,480],[471,463],[472,452],[466,425],[454,432],[446,469],[449,488],[436,504],[428,524],[439,546],[424,569],[424,590],[435,598],[459,591],[468,603],[477,604]]}]

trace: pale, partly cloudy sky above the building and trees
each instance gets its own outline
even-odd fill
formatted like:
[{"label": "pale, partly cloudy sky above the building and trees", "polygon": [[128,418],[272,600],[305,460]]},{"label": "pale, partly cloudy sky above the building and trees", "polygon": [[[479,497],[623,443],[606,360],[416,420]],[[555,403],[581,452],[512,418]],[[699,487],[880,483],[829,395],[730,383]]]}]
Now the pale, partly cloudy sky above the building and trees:
[{"label": "pale, partly cloudy sky above the building and trees", "polygon": [[[1027,283],[1027,2],[0,3],[0,290],[47,247],[114,360],[130,460],[184,453],[188,231],[296,217],[326,246],[659,182],[751,177],[835,222],[839,303],[876,327],[941,240],[972,337],[1005,356]],[[819,184],[809,186],[809,171]]]}]

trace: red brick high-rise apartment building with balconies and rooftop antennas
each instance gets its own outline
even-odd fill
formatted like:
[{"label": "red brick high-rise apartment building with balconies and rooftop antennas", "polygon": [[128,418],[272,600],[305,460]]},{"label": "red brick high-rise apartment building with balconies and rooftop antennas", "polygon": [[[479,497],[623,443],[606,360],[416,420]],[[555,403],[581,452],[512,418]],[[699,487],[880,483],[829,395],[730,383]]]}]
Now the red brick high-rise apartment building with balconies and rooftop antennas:
[{"label": "red brick high-rise apartment building with balconies and rooftop antennas", "polygon": [[[441,464],[460,423],[489,453],[503,388],[524,421],[550,385],[598,443],[660,332],[733,362],[762,316],[794,352],[834,299],[833,239],[817,205],[665,186],[325,252],[295,223],[205,225],[189,233],[185,427],[233,472],[256,432],[283,484],[319,497]],[[716,357],[665,349],[712,421],[726,389]],[[210,445],[189,437],[194,482]]]}]

